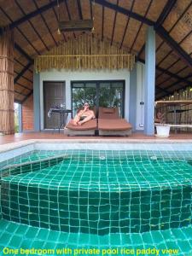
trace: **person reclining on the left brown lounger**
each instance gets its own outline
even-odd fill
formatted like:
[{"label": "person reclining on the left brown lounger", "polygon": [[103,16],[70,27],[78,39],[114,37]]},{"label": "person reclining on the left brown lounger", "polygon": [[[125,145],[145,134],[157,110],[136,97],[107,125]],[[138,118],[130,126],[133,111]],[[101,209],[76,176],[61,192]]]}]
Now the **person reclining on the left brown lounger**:
[{"label": "person reclining on the left brown lounger", "polygon": [[85,122],[89,121],[90,119],[95,119],[95,113],[90,110],[89,103],[84,103],[84,109],[80,110],[79,113],[76,114],[74,119],[71,120],[73,125],[83,125]]}]

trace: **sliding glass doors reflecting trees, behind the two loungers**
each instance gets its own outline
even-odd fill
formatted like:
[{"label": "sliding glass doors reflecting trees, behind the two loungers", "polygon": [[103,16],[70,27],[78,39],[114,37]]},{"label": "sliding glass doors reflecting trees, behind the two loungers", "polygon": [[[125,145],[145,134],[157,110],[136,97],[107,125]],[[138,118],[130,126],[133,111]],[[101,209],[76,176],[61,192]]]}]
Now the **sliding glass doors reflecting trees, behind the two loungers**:
[{"label": "sliding glass doors reflecting trees, behind the two loungers", "polygon": [[118,108],[119,115],[124,117],[125,81],[75,81],[72,82],[73,115],[82,108],[84,102],[90,108]]}]

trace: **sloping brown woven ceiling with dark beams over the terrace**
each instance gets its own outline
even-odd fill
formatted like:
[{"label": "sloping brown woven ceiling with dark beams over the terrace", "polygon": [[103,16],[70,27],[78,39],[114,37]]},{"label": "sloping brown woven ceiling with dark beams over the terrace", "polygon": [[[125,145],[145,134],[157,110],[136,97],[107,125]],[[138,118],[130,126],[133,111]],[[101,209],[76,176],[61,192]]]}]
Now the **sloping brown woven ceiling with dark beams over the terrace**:
[{"label": "sloping brown woven ceiling with dark beams over the terrace", "polygon": [[125,47],[143,63],[146,29],[154,26],[156,100],[191,86],[191,0],[0,0],[0,26],[15,31],[15,102],[32,95],[34,57],[79,36],[59,35],[58,19],[92,17],[94,36]]}]

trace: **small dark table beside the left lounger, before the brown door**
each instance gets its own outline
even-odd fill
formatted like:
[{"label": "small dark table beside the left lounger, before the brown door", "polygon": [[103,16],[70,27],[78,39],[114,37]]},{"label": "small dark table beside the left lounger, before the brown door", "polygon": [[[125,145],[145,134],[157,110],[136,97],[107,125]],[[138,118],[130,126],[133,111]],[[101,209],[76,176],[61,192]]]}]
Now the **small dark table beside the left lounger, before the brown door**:
[{"label": "small dark table beside the left lounger, before the brown door", "polygon": [[50,118],[52,113],[59,113],[60,114],[60,119],[59,119],[59,124],[58,127],[55,127],[55,129],[59,129],[59,133],[60,133],[60,129],[66,125],[66,120],[68,117],[68,113],[72,113],[71,109],[65,109],[65,108],[50,108],[49,109],[49,113],[48,113],[48,117]]}]

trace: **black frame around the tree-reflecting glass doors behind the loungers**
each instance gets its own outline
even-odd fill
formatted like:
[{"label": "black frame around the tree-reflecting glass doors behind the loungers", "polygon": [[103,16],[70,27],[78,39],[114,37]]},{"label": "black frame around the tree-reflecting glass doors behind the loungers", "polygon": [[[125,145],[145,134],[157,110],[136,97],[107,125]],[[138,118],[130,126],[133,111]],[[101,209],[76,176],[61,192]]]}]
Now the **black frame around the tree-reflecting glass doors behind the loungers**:
[{"label": "black frame around the tree-reflecting glass doors behind the loungers", "polygon": [[73,84],[96,84],[96,117],[98,117],[98,111],[99,111],[99,90],[100,90],[100,84],[101,83],[122,83],[123,85],[123,96],[122,96],[122,118],[125,117],[125,80],[73,80],[71,81],[71,108],[73,109]]}]

